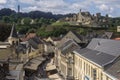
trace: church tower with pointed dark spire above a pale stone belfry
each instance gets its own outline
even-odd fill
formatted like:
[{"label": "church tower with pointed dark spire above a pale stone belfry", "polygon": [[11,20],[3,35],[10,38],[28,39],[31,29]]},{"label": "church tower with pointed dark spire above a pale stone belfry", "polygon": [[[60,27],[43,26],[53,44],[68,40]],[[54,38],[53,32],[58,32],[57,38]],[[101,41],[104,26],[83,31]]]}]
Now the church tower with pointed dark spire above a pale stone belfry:
[{"label": "church tower with pointed dark spire above a pale stone belfry", "polygon": [[10,45],[18,45],[19,43],[19,38],[14,24],[12,26],[10,36],[8,37],[8,42]]}]

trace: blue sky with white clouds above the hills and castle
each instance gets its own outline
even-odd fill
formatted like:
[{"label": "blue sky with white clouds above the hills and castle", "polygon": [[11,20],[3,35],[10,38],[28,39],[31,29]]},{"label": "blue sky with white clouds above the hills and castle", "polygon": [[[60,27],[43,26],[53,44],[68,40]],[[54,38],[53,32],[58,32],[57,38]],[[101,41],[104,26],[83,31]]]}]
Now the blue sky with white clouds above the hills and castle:
[{"label": "blue sky with white clouds above the hills and castle", "polygon": [[0,9],[11,8],[21,12],[40,10],[53,14],[78,13],[89,11],[91,14],[100,12],[103,16],[120,17],[120,0],[0,0]]}]

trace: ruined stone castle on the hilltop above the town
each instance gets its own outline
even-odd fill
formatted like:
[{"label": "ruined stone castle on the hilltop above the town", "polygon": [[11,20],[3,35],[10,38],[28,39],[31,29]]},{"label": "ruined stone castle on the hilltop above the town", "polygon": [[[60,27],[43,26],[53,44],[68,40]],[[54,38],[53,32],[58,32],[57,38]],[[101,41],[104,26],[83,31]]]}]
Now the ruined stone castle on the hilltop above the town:
[{"label": "ruined stone castle on the hilltop above the town", "polygon": [[90,27],[105,27],[109,21],[109,16],[101,16],[101,13],[96,13],[95,15],[91,15],[90,12],[80,12],[74,14],[72,17],[66,17],[64,19],[60,19],[59,21],[65,21],[70,23],[71,25],[86,25]]}]

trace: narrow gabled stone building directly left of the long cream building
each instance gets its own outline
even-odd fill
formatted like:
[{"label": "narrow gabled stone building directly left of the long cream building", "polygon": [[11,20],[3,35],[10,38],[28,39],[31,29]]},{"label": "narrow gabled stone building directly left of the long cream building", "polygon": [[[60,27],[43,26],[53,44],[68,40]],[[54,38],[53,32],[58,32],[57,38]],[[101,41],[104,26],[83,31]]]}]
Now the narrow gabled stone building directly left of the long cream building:
[{"label": "narrow gabled stone building directly left of the long cream building", "polygon": [[59,70],[65,79],[72,80],[74,75],[74,54],[71,52],[79,49],[80,46],[74,40],[67,40],[60,48]]}]

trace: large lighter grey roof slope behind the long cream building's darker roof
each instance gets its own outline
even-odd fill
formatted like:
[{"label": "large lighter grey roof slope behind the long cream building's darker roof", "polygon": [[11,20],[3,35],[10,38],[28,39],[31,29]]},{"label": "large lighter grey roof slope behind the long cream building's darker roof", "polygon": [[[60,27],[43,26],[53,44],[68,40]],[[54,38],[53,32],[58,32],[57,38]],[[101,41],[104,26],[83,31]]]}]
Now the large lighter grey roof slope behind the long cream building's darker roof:
[{"label": "large lighter grey roof slope behind the long cream building's darker roof", "polygon": [[120,41],[94,38],[87,48],[97,50],[118,57],[120,55]]}]

